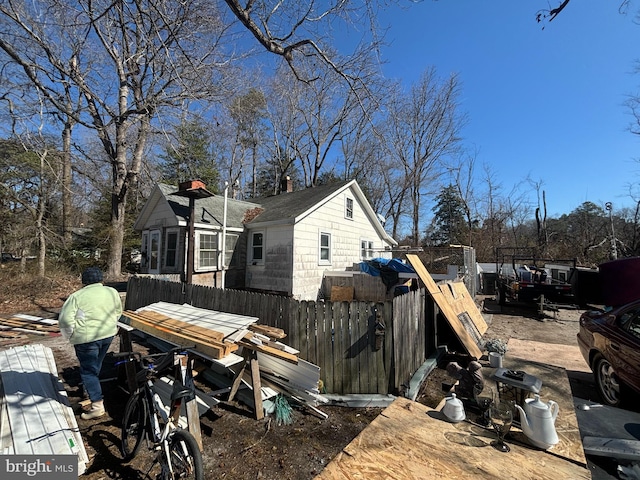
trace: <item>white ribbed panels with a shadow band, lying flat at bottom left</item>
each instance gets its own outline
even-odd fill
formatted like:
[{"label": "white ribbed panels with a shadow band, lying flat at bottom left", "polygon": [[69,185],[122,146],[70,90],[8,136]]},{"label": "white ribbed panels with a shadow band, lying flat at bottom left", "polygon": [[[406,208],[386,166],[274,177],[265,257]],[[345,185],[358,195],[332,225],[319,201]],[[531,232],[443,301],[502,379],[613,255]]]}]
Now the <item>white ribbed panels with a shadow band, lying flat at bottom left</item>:
[{"label": "white ribbed panels with a shadow band, lying flat at bottom left", "polygon": [[31,344],[0,352],[0,452],[77,455],[89,461],[76,418],[49,347]]}]

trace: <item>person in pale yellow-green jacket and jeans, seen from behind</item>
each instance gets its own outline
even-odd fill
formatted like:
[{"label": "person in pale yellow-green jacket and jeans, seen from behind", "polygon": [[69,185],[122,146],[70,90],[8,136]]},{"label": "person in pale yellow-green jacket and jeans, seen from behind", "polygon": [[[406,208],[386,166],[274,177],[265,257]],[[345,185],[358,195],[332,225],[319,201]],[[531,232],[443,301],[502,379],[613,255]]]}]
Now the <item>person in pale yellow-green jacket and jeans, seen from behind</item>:
[{"label": "person in pale yellow-green jacket and jeans, seen from behind", "polygon": [[91,406],[80,416],[91,420],[105,414],[100,370],[122,315],[122,301],[115,288],[102,284],[97,267],[82,272],[83,288],[69,295],[58,315],[60,333],[74,346],[80,378]]}]

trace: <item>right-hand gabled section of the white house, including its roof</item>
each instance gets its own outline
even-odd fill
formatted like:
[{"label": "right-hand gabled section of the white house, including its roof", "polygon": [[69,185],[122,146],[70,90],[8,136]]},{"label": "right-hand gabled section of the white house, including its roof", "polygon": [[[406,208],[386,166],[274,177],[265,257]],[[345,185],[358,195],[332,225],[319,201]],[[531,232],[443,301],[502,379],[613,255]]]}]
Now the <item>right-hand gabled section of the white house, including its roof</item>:
[{"label": "right-hand gabled section of the white house, including its roof", "polygon": [[[264,212],[246,225],[251,288],[316,299],[324,272],[359,262],[363,244],[368,258],[390,256],[396,245],[355,181],[258,201]],[[264,242],[259,261],[251,258],[254,235]]]}]

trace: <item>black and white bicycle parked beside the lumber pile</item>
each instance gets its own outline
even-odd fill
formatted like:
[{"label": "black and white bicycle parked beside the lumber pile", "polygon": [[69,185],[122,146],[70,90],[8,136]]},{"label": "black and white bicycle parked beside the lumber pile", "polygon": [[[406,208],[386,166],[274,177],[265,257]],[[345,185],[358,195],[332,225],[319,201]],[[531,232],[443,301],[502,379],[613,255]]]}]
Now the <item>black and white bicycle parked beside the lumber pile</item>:
[{"label": "black and white bicycle parked beside the lumber pile", "polygon": [[[156,452],[145,474],[146,478],[152,478],[151,475],[155,473],[156,480],[204,480],[202,454],[196,439],[179,425],[183,402],[195,398],[193,383],[182,381],[180,364],[176,358],[181,350],[184,348],[176,347],[161,354],[163,356],[157,365],[153,359],[158,355],[143,356],[139,352],[116,354],[128,357],[125,362],[136,362],[138,385],[124,408],[121,453],[124,461],[132,460],[145,439],[149,451]],[[171,402],[166,406],[154,388],[154,380],[172,366],[175,366],[176,375]]]}]

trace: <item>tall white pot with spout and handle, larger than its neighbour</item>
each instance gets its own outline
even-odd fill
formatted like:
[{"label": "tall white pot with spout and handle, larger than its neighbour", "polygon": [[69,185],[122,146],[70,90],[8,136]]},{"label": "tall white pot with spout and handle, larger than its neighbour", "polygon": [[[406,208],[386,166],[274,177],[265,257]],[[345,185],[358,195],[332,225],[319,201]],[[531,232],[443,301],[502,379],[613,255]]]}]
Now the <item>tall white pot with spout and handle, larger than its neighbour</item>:
[{"label": "tall white pot with spout and handle, larger than its neighbour", "polygon": [[551,448],[560,441],[555,427],[558,404],[553,400],[544,403],[540,400],[540,395],[527,398],[524,402],[524,410],[520,405],[516,405],[520,412],[522,431],[536,447],[543,450]]}]

